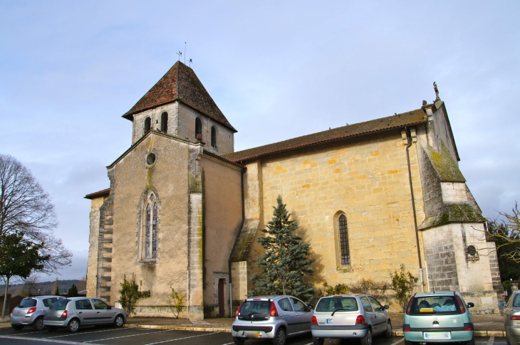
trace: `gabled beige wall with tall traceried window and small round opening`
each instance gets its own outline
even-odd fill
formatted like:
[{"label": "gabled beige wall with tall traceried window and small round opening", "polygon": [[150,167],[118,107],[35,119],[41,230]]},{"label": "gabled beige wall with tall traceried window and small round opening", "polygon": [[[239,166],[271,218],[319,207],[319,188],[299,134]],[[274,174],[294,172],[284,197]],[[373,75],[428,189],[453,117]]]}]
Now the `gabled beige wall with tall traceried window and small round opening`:
[{"label": "gabled beige wall with tall traceried window and small round opening", "polygon": [[[162,314],[172,305],[171,288],[187,292],[188,224],[189,224],[189,147],[197,146],[163,134],[152,133],[130,152],[110,166],[113,171],[111,188],[113,201],[113,252],[111,253],[113,287],[112,301],[118,301],[123,275],[135,274],[142,290],[150,290],[151,297],[141,299],[139,307]],[[147,166],[146,156],[156,156]],[[140,257],[140,233],[144,229],[144,212],[140,200],[153,191],[159,201],[157,223],[157,260],[145,262]],[[201,309],[202,309],[202,303]],[[150,307],[165,307],[150,309]],[[137,308],[139,315],[140,308]]]}]

